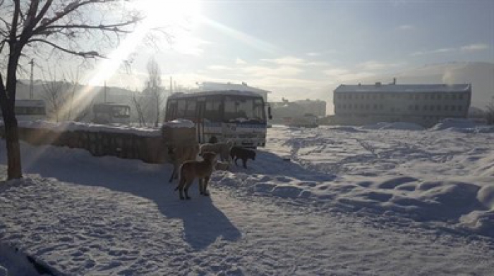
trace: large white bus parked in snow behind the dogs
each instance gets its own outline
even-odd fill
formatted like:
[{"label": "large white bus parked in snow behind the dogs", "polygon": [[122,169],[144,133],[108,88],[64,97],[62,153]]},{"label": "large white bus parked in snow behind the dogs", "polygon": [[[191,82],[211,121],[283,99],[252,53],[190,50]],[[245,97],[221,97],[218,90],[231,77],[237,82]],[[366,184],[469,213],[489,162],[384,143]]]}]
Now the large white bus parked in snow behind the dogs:
[{"label": "large white bus parked in snow behind the dogs", "polygon": [[[176,93],[167,99],[165,121],[179,118],[197,125],[198,141],[225,142],[255,148],[266,144],[263,96],[236,90]],[[269,118],[271,108],[268,107]]]}]

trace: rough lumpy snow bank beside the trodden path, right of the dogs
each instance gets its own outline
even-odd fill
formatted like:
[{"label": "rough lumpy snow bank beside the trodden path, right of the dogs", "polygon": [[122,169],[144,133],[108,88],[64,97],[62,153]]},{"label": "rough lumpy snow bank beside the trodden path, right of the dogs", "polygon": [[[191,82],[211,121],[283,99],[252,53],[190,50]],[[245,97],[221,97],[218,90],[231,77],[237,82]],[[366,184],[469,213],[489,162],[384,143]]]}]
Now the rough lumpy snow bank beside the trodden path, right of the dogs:
[{"label": "rough lumpy snow bank beside the trodden path, right of the dogs", "polygon": [[[494,137],[462,132],[275,128],[248,172],[215,178],[252,196],[377,213],[494,237]],[[287,163],[284,159],[289,158]],[[255,172],[254,175],[251,175]]]}]

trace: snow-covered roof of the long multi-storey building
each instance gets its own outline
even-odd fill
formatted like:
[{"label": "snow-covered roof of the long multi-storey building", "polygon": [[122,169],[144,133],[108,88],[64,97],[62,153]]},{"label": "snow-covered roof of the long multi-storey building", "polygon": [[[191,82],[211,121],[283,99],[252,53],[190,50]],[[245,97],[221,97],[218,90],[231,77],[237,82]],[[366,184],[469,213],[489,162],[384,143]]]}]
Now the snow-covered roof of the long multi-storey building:
[{"label": "snow-covered roof of the long multi-storey building", "polygon": [[347,92],[389,92],[389,93],[406,93],[406,92],[469,92],[471,84],[341,84],[336,93]]}]

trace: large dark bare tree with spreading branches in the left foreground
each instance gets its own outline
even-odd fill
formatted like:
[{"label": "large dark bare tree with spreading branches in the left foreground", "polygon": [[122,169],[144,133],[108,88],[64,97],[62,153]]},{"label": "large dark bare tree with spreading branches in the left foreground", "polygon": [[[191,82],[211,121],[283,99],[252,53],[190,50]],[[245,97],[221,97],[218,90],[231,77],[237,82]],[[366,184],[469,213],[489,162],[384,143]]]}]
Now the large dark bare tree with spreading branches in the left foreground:
[{"label": "large dark bare tree with spreading branches in the left foreground", "polygon": [[[104,57],[142,19],[121,0],[0,0],[0,106],[4,116],[8,179],[22,177],[18,122],[14,111],[20,61],[64,53]],[[47,49],[49,51],[47,52]],[[4,80],[5,76],[5,80]]]}]

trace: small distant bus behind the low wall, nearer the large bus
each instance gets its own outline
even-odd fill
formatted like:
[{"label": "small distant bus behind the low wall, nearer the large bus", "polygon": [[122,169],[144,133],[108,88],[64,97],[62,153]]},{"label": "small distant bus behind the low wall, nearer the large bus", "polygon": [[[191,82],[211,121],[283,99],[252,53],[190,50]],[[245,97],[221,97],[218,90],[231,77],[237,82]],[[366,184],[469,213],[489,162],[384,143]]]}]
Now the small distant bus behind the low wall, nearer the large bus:
[{"label": "small distant bus behind the low wall, nearer the large bus", "polygon": [[92,114],[92,123],[97,124],[128,125],[131,121],[131,107],[123,103],[95,103]]}]

